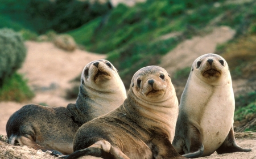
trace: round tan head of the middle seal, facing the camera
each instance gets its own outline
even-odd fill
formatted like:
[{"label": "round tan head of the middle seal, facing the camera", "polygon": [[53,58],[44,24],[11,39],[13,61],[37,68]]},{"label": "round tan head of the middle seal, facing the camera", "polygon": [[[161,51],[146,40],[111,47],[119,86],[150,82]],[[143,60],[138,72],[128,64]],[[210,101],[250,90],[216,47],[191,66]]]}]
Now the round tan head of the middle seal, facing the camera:
[{"label": "round tan head of the middle seal, facing the camera", "polygon": [[147,66],[138,70],[131,80],[130,90],[147,101],[166,100],[174,93],[170,75],[159,66]]}]

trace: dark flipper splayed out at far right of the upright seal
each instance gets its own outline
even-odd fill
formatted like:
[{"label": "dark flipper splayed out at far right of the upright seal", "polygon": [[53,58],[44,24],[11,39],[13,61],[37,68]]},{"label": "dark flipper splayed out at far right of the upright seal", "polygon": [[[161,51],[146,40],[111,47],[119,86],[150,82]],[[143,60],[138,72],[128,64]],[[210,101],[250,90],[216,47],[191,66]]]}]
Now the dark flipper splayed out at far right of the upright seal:
[{"label": "dark flipper splayed out at far right of the upright seal", "polygon": [[232,153],[232,152],[250,152],[251,149],[241,148],[237,145],[236,139],[234,137],[234,130],[233,127],[230,129],[228,136],[224,143],[216,150],[218,154],[222,153]]}]

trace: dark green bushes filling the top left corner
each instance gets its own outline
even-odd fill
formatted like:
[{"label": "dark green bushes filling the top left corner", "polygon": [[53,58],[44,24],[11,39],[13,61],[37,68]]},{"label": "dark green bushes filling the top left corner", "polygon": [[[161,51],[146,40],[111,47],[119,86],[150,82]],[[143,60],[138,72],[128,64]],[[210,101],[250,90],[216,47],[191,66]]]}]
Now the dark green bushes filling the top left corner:
[{"label": "dark green bushes filling the top left corner", "polygon": [[49,29],[65,32],[80,27],[110,10],[108,3],[101,4],[77,0],[0,0],[0,27],[15,31],[28,29],[45,33]]}]

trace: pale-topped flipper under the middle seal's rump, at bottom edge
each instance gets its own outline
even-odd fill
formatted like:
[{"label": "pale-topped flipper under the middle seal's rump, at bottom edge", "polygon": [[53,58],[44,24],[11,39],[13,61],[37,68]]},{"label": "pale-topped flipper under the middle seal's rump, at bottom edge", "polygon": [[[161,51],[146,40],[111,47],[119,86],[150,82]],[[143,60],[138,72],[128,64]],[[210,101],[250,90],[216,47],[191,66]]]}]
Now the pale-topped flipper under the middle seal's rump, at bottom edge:
[{"label": "pale-topped flipper under the middle seal's rump, at bottom edge", "polygon": [[80,149],[79,151],[69,154],[66,159],[75,159],[80,156],[95,156],[106,159],[118,158],[118,159],[130,159],[119,148],[113,147],[108,141],[100,140],[90,147]]}]

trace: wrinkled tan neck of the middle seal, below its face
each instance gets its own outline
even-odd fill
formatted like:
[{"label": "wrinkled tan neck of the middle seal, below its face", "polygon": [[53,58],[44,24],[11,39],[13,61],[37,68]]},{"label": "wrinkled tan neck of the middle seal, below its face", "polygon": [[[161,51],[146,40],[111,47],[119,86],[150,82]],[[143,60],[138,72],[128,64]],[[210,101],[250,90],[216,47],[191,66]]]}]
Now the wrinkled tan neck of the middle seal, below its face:
[{"label": "wrinkled tan neck of the middle seal, below its face", "polygon": [[123,106],[127,116],[148,131],[166,134],[170,141],[174,139],[175,124],[178,114],[177,97],[160,102],[145,102],[129,92]]}]

